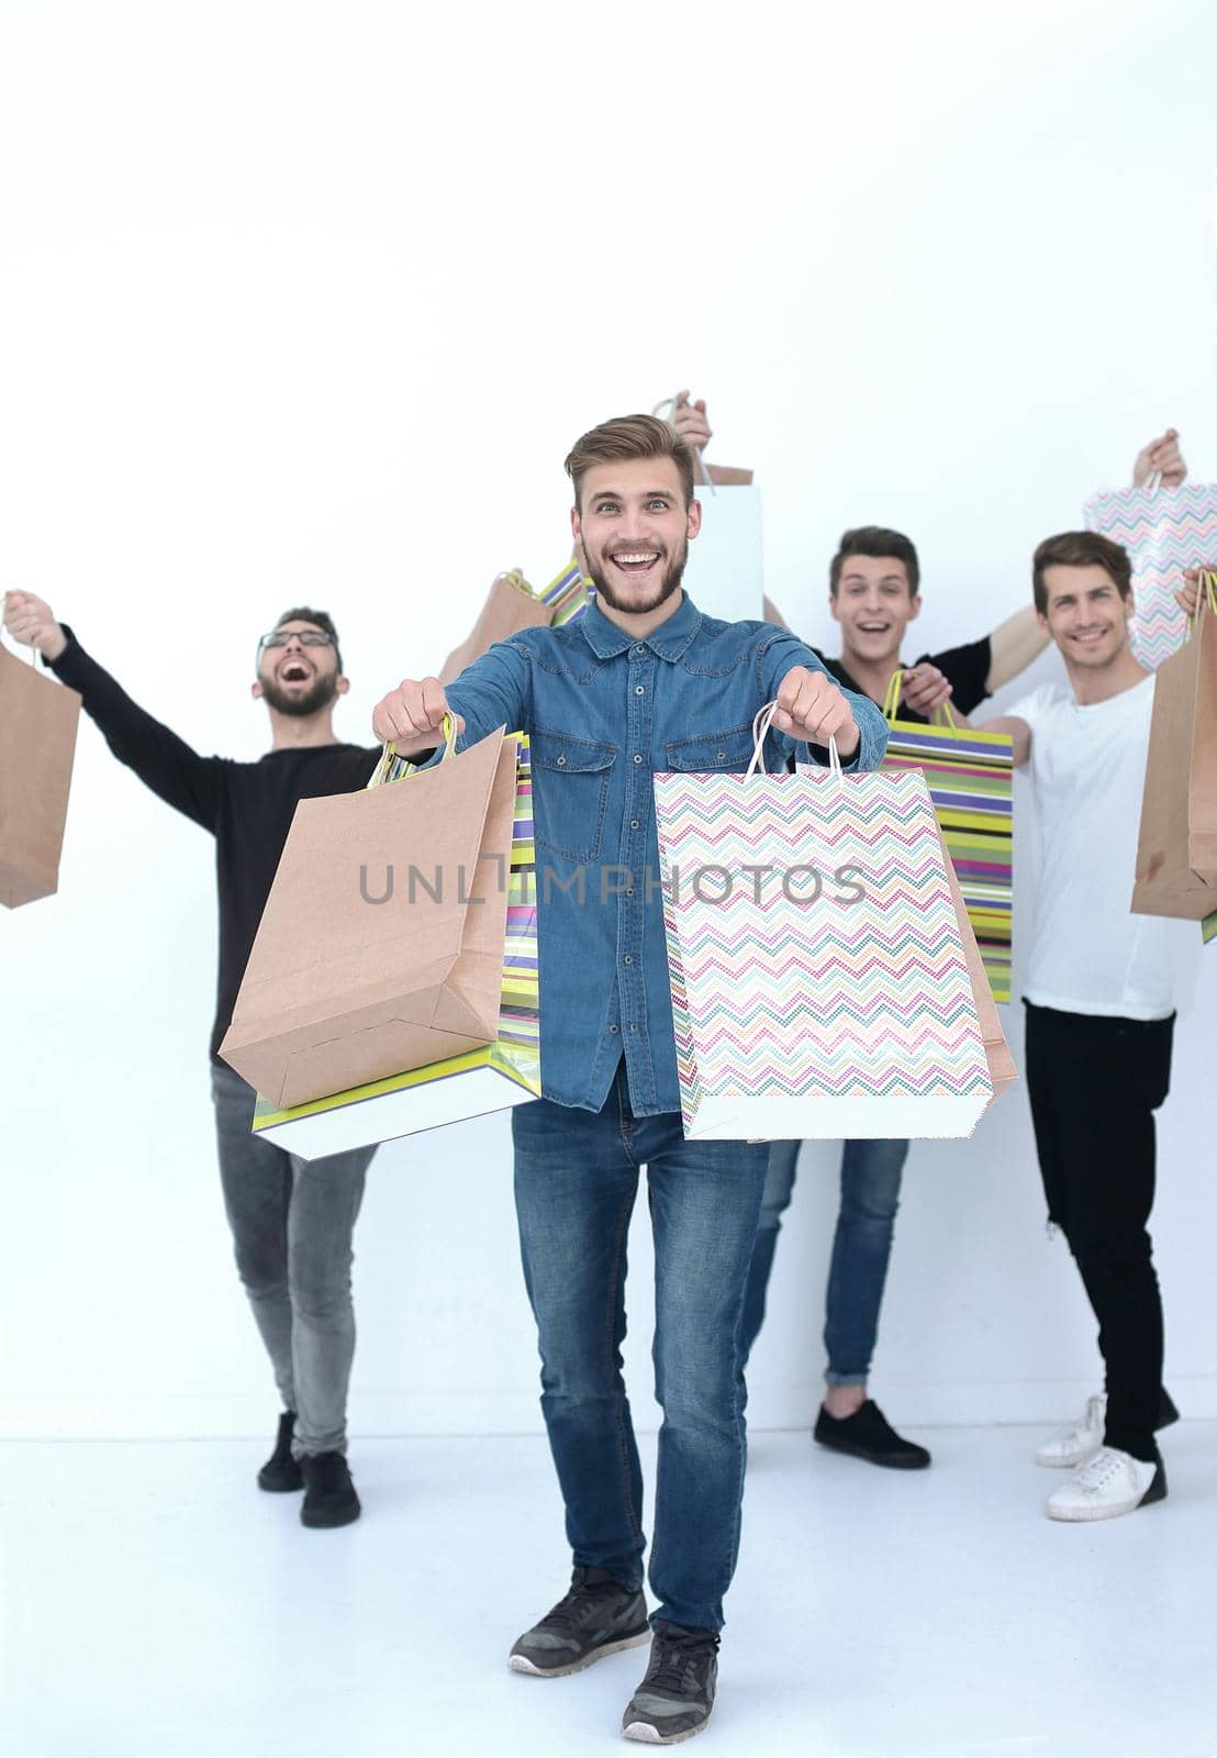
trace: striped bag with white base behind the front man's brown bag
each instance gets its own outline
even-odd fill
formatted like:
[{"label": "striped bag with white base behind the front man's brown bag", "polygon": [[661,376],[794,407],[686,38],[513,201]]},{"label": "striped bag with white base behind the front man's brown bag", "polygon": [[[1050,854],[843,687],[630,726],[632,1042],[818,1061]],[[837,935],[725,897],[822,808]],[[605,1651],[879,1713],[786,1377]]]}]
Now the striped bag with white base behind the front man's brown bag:
[{"label": "striped bag with white base behind the front man's brown bag", "polygon": [[[302,1160],[317,1160],[327,1153],[366,1148],[375,1141],[392,1141],[540,1099],[533,774],[526,735],[510,733],[508,740],[515,744],[515,817],[506,874],[498,1035],[491,1044],[461,1057],[431,1062],[292,1109],[276,1109],[259,1097],[253,1113],[257,1136]],[[390,745],[369,786],[399,786],[415,772],[417,765],[396,756]],[[487,875],[487,883],[492,884],[494,879]]]}]

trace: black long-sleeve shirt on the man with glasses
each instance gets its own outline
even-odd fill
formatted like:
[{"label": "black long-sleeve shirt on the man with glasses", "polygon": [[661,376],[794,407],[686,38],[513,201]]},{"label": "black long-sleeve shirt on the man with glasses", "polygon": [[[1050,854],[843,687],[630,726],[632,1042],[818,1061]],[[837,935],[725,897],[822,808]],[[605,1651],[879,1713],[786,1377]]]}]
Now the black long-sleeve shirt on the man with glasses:
[{"label": "black long-sleeve shirt on the man with glasses", "polygon": [[257,763],[200,758],[185,738],[146,714],[90,659],[70,629],[51,670],[81,693],[84,712],[100,728],[120,763],[151,791],[216,839],[220,900],[220,970],[211,1058],[229,1030],[241,977],[259,932],[297,800],[364,788],[380,749],[304,745],[267,751]]}]

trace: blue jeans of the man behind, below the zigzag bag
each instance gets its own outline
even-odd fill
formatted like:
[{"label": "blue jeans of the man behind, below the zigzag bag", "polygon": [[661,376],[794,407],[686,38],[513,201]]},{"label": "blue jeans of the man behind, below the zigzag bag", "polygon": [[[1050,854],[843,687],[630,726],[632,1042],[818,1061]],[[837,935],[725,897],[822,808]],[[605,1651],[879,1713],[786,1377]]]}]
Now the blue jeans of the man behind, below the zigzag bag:
[{"label": "blue jeans of the man behind, below the zigzag bag", "polygon": [[[765,1318],[765,1290],[783,1211],[795,1188],[800,1141],[776,1141],[762,1201],[756,1250],[744,1303],[744,1359]],[[879,1331],[892,1231],[900,1202],[907,1141],[846,1141],[841,1155],[841,1210],[828,1266],[825,1348],[828,1385],[865,1385]]]}]

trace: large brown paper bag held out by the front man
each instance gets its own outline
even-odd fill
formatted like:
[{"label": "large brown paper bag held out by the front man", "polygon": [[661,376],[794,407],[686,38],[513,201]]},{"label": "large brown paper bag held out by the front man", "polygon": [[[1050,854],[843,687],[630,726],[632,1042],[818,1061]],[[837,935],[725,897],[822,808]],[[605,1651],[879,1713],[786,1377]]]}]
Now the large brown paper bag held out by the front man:
[{"label": "large brown paper bag held out by the front man", "polygon": [[301,800],[220,1055],[278,1109],[494,1041],[515,747]]}]

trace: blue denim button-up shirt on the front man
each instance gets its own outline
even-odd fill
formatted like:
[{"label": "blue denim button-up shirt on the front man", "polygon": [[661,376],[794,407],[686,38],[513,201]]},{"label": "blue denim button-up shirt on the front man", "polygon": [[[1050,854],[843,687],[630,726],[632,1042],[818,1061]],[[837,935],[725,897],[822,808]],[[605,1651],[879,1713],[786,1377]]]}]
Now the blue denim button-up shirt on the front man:
[{"label": "blue denim button-up shirt on the front man", "polygon": [[[681,1109],[651,777],[742,774],[753,717],[800,665],[823,672],[784,629],[703,617],[686,596],[645,640],[593,605],[498,642],[448,686],[463,745],[499,726],[529,735],[547,1099],[600,1111],[624,1055],[635,1116]],[[848,768],[874,768],[886,723],[846,696],[862,731]],[[769,744],[825,761],[781,733]]]}]

